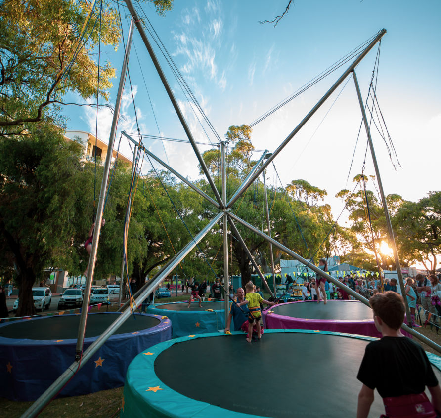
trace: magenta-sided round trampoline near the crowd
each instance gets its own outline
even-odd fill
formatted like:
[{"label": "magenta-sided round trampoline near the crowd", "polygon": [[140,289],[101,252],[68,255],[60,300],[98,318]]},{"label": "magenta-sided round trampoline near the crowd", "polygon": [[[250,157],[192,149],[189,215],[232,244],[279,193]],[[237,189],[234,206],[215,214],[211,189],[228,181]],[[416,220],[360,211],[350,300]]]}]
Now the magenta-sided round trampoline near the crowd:
[{"label": "magenta-sided round trampoline near the crowd", "polygon": [[[272,313],[269,313],[273,311]],[[357,300],[281,303],[263,312],[265,328],[322,330],[380,338],[372,309]]]}]

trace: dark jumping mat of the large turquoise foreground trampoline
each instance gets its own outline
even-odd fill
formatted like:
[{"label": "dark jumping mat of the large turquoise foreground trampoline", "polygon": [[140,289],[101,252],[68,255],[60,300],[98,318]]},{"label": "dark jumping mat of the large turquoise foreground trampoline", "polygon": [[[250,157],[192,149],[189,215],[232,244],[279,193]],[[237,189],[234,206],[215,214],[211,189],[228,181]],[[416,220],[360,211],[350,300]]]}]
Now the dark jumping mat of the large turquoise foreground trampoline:
[{"label": "dark jumping mat of the large turquoise foreground trampoline", "polygon": [[[356,375],[368,342],[318,333],[267,333],[251,344],[245,334],[197,338],[163,351],[154,367],[176,392],[228,410],[265,417],[354,417],[361,389]],[[212,364],[213,373],[182,362],[190,358]],[[369,417],[382,413],[375,392]]]}]

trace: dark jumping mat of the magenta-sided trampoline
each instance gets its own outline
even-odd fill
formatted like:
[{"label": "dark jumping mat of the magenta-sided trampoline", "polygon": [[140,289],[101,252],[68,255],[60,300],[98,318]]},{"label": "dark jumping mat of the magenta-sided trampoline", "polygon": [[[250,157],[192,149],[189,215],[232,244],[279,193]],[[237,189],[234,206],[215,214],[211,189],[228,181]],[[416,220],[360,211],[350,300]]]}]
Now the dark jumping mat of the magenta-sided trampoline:
[{"label": "dark jumping mat of the magenta-sided trampoline", "polygon": [[329,300],[326,305],[317,302],[291,302],[286,305],[273,306],[271,310],[277,315],[293,318],[339,319],[360,321],[372,319],[372,309],[358,301]]}]

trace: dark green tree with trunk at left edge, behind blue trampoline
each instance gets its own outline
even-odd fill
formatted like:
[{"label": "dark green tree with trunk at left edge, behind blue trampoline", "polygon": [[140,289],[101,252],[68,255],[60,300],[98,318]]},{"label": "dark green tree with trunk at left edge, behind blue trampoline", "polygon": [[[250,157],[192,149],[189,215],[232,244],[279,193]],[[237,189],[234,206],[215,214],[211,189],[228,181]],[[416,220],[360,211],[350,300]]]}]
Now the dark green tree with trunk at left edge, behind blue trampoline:
[{"label": "dark green tree with trunk at left edge, behind blue trampoline", "polygon": [[16,269],[18,315],[35,312],[32,286],[72,252],[85,202],[80,153],[47,126],[0,141],[0,258]]}]

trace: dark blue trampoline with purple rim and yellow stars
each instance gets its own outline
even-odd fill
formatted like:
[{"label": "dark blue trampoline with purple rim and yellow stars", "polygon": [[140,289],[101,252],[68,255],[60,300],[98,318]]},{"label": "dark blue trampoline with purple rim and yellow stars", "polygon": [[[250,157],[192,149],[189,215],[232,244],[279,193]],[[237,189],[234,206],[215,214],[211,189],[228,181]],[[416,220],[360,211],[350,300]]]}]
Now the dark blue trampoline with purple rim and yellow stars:
[{"label": "dark blue trampoline with purple rim and yellow stars", "polygon": [[[116,319],[117,312],[88,315],[84,350]],[[0,325],[0,393],[33,401],[73,362],[80,315],[27,318]],[[128,318],[61,391],[75,396],[124,384],[142,350],[171,338],[171,321],[147,314]]]}]

